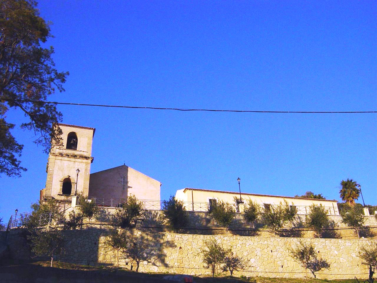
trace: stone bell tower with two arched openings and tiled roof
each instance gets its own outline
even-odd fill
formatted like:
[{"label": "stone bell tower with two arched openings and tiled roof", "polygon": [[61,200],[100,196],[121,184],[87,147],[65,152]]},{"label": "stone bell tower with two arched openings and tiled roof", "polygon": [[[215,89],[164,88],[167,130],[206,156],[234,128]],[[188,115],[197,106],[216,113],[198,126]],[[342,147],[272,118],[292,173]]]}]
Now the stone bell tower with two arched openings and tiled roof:
[{"label": "stone bell tower with two arched openings and tiled roof", "polygon": [[67,200],[77,193],[88,194],[92,140],[95,129],[57,124],[63,145],[52,146],[47,163],[46,188],[41,198]]}]

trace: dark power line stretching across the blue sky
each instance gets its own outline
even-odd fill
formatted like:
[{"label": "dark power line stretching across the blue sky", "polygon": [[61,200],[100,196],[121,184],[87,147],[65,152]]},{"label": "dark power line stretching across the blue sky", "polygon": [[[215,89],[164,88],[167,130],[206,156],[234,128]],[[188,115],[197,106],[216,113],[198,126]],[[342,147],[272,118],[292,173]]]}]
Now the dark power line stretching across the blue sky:
[{"label": "dark power line stretching across the blue sky", "polygon": [[34,103],[37,102],[37,103],[55,104],[55,105],[97,106],[97,107],[112,107],[112,108],[154,109],[154,110],[175,110],[175,111],[244,112],[244,113],[304,113],[304,114],[377,113],[377,111],[257,111],[257,110],[228,110],[228,109],[184,109],[184,108],[167,108],[167,107],[148,107],[148,106],[68,103],[68,102],[42,101],[42,100],[35,101],[35,100],[10,99],[10,98],[3,98],[3,97],[0,97],[0,100],[14,101],[14,102],[34,102]]}]

